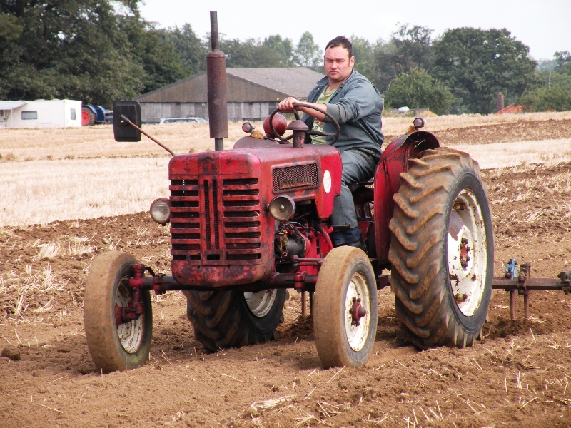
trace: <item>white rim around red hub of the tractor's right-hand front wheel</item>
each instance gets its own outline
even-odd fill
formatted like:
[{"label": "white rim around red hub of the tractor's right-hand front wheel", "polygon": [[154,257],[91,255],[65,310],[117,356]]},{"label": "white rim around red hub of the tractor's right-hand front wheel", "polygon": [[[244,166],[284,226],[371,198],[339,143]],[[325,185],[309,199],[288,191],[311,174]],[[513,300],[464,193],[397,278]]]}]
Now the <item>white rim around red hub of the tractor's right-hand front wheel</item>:
[{"label": "white rim around red hub of the tractor's right-hand front wheel", "polygon": [[[351,308],[353,307],[353,299],[360,299],[360,304],[367,311],[365,316],[359,320],[359,325],[355,325],[353,315],[351,315]],[[355,352],[363,349],[367,336],[369,334],[370,324],[370,297],[369,287],[365,275],[361,272],[356,272],[347,287],[347,294],[345,295],[345,335],[349,346]]]}]

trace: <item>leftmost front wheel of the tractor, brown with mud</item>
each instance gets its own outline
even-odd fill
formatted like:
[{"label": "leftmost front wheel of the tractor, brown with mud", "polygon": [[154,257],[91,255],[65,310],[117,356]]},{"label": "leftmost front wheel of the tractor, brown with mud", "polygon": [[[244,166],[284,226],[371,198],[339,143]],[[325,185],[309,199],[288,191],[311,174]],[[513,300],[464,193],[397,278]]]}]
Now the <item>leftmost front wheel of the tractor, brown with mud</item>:
[{"label": "leftmost front wheel of the tractor, brown with mud", "polygon": [[153,312],[148,290],[141,290],[144,313],[137,320],[120,325],[116,321],[116,307],[125,307],[133,299],[129,278],[135,263],[130,254],[110,251],[95,259],[87,275],[85,337],[95,365],[106,373],[141,367],[151,350]]}]

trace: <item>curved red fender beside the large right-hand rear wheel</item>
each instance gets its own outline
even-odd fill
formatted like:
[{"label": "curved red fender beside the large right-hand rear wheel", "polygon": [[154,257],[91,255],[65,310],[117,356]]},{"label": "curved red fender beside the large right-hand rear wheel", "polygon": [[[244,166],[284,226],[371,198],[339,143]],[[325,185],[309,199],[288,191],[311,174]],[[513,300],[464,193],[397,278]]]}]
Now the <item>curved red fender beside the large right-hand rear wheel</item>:
[{"label": "curved red fender beside the large right-hand rear wheel", "polygon": [[385,148],[375,172],[375,244],[380,267],[390,265],[390,229],[395,202],[393,196],[400,187],[400,174],[408,171],[408,160],[430,148],[440,147],[440,141],[428,131],[415,131],[400,136]]}]

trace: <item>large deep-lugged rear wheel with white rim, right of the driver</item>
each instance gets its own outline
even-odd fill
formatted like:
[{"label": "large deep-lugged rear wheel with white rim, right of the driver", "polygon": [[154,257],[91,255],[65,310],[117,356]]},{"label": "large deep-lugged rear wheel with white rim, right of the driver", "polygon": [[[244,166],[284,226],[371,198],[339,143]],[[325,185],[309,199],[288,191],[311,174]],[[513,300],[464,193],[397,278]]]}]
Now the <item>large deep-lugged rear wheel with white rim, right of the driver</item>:
[{"label": "large deep-lugged rear wheel with white rim, right of the driver", "polygon": [[390,285],[410,341],[472,345],[492,295],[492,213],[468,153],[424,151],[400,175],[390,220]]}]

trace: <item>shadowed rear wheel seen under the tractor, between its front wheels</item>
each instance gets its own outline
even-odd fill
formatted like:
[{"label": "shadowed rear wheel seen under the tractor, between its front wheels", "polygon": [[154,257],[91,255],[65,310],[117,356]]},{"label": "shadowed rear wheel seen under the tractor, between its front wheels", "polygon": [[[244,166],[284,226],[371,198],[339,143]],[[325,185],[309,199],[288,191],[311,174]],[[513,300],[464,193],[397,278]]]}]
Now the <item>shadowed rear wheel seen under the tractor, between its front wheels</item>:
[{"label": "shadowed rear wheel seen under the tractor, between its front wheels", "polygon": [[210,352],[273,340],[288,295],[285,289],[183,293],[196,340]]}]

